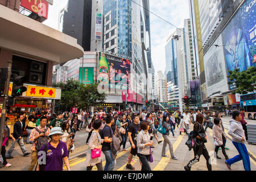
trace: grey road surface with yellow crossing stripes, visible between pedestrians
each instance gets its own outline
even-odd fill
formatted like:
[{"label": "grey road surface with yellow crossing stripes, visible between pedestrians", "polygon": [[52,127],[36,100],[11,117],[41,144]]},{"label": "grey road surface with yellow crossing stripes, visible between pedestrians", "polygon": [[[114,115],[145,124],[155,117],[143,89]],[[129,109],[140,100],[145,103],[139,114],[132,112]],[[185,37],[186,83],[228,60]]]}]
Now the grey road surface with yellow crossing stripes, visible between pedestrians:
[{"label": "grey road surface with yellow crossing stripes, visible between pedestrians", "polygon": [[[230,117],[222,117],[222,121],[225,127],[225,132],[228,132],[229,129],[229,120]],[[249,124],[256,124],[256,121],[246,119],[246,121]],[[191,125],[191,128],[189,131],[193,129],[193,125]],[[229,171],[229,169],[226,167],[226,164],[224,163],[224,156],[222,155],[221,150],[218,151],[218,156],[220,156],[222,159],[216,159],[213,157],[214,155],[214,144],[213,144],[213,138],[212,136],[212,130],[208,129],[207,131],[207,140],[208,142],[205,144],[207,147],[207,150],[209,152],[209,155],[211,157],[212,162],[212,170],[213,171]],[[85,129],[78,131],[76,133],[75,137],[75,152],[69,156],[69,163],[71,166],[71,169],[73,171],[84,171],[86,170],[85,165],[85,158],[86,158],[86,152],[88,151],[88,145],[86,145],[86,138],[88,137],[88,133],[85,131]],[[176,129],[175,131],[175,137],[172,137],[170,135],[171,142],[174,147],[174,153],[175,156],[177,156],[177,160],[170,159],[170,152],[168,149],[168,146],[166,147],[166,155],[169,156],[169,158],[162,158],[162,147],[163,142],[158,144],[154,140],[154,151],[153,151],[153,158],[154,162],[150,163],[151,169],[156,171],[183,171],[183,166],[189,162],[193,158],[193,150],[189,151],[188,147],[185,145],[185,142],[187,141],[187,135],[179,135],[179,129]],[[158,133],[158,138],[162,138],[162,134]],[[228,135],[228,138],[230,136]],[[26,137],[24,137],[24,140],[26,140]],[[30,151],[31,144],[25,144],[26,149]],[[229,156],[229,158],[232,158],[233,156],[238,155],[238,152],[236,148],[233,146],[232,140],[228,139],[226,143],[226,147],[230,148],[230,150],[226,151],[226,154]],[[247,144],[246,143],[247,150],[250,152],[250,164],[251,164],[251,170],[256,171],[256,144]],[[8,149],[9,147],[7,147]],[[130,150],[130,142],[126,142],[126,148]],[[127,164],[127,158],[129,155],[129,151],[120,151],[118,152],[116,164],[114,167],[115,171],[131,171],[130,169],[126,168]],[[23,157],[22,152],[16,144],[15,150],[13,152],[14,159],[8,159],[7,161],[13,166],[6,168],[2,167],[0,168],[0,171],[20,171],[24,170],[26,171],[29,164],[30,164],[30,156]],[[105,166],[105,156],[102,154],[102,164]],[[133,158],[133,162],[131,163],[136,171],[141,170],[141,164],[139,163],[139,159],[137,156]],[[232,164],[232,170],[234,171],[243,171],[243,164],[242,161],[237,162],[235,164]],[[64,170],[65,170],[64,166]],[[97,170],[96,167],[93,167],[93,170]],[[200,157],[200,161],[192,166],[192,171],[206,171],[206,160],[203,156]]]}]

